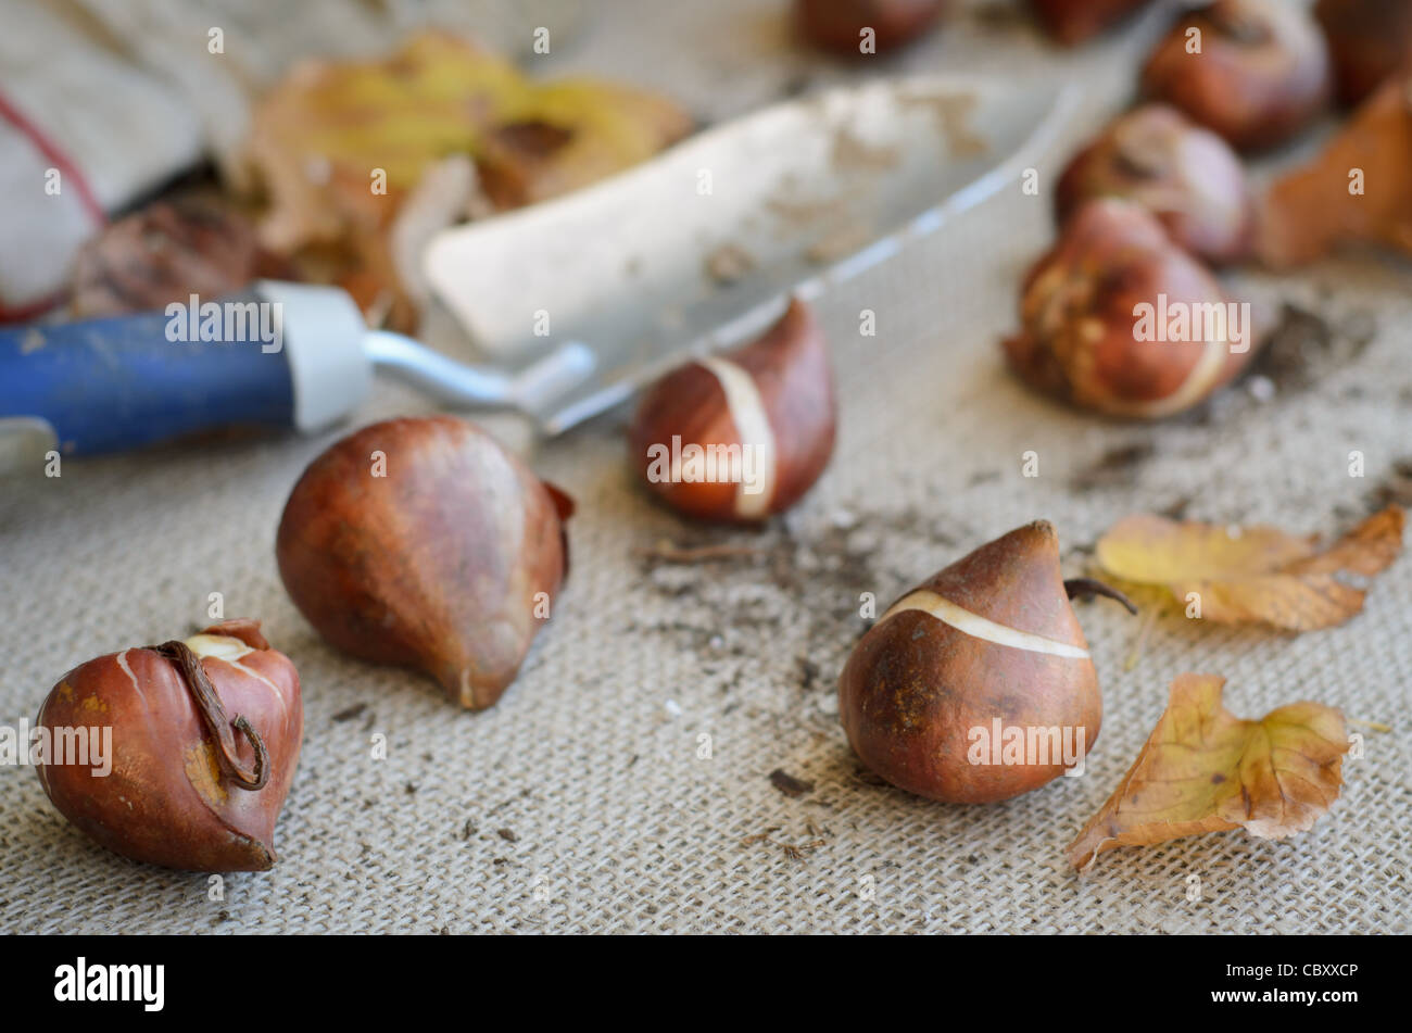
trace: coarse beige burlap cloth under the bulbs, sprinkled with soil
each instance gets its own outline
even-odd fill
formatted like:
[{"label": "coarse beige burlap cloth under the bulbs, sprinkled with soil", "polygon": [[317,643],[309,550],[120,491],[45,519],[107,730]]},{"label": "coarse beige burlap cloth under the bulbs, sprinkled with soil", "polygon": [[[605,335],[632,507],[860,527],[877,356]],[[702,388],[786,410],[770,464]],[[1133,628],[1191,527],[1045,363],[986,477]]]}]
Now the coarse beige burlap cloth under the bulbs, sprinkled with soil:
[{"label": "coarse beige burlap cloth under the bulbs, sprinkled with soil", "polygon": [[[563,66],[633,68],[727,114],[761,99],[741,86],[753,72],[770,65],[755,78],[774,76],[758,87],[768,92],[796,62],[779,56],[775,4],[654,6],[651,25],[631,7],[604,4]],[[713,32],[698,24],[707,14]],[[1091,82],[1089,110],[1039,165],[1048,185],[1079,134],[1125,102],[1154,28],[1148,20],[1067,55],[987,6],[885,68]],[[674,38],[700,41],[693,73]],[[628,54],[635,62],[621,64]],[[851,72],[825,78],[836,75]],[[1412,454],[1405,262],[1360,257],[1237,278],[1248,296],[1316,312],[1320,333],[1257,389],[1236,387],[1161,426],[1125,425],[1027,394],[1000,361],[1017,279],[1051,233],[1048,189],[1025,198],[1017,185],[822,302],[842,385],[837,452],[806,501],[760,533],[689,526],[652,505],[628,473],[621,413],[541,446],[537,469],[579,502],[573,570],[518,682],[483,714],[456,710],[419,677],[335,653],[285,597],[274,529],[333,433],[71,461],[59,478],[7,483],[0,721],[32,720],[59,675],[89,656],[186,634],[220,591],[226,615],[263,620],[298,665],[306,741],[280,862],[227,876],[219,895],[208,876],[93,845],[32,771],[0,769],[0,929],[1406,931],[1408,557],[1377,580],[1360,617],[1298,638],[1169,610],[1137,649],[1141,620],[1080,605],[1104,693],[1082,778],[1007,803],[943,806],[878,785],[850,754],[836,680],[864,628],[860,593],[885,604],[1039,516],[1059,528],[1067,576],[1117,518],[1180,500],[1193,518],[1337,532]],[[875,337],[858,336],[866,308]],[[364,419],[424,411],[384,387]],[[1022,476],[1027,450],[1039,477]],[[1348,476],[1354,450],[1364,478]],[[640,555],[659,540],[753,552],[702,564]],[[1128,848],[1075,875],[1065,845],[1186,670],[1224,675],[1226,703],[1243,717],[1312,699],[1394,731],[1351,727],[1365,732],[1365,754],[1346,761],[1340,799],[1306,834]],[[370,756],[374,734],[387,737],[384,761]],[[812,790],[786,795],[775,769]]]}]

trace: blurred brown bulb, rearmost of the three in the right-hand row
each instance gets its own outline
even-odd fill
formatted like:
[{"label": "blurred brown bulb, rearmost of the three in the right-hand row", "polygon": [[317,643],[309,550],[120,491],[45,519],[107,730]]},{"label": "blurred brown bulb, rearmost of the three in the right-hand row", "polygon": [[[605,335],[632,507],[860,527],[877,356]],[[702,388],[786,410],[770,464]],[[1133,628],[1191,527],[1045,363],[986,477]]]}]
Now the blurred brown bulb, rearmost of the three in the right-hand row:
[{"label": "blurred brown bulb, rearmost of the three in the right-hand row", "polygon": [[[1187,52],[1190,30],[1200,52]],[[1216,0],[1183,14],[1142,69],[1147,96],[1180,109],[1238,151],[1284,144],[1332,93],[1329,51],[1286,0]]]}]

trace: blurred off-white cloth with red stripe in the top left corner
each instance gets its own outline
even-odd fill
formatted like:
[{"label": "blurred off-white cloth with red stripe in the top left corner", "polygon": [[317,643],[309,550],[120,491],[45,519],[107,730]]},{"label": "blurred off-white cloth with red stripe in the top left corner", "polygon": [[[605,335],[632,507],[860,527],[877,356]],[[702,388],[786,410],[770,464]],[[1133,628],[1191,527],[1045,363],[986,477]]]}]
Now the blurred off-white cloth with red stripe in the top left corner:
[{"label": "blurred off-white cloth with red stripe in the top left corner", "polygon": [[[381,54],[424,24],[515,54],[544,21],[572,40],[578,4],[0,0],[0,319],[64,288],[103,212],[202,155],[239,186],[250,99],[294,61]],[[56,165],[65,175],[54,195],[47,183]]]}]

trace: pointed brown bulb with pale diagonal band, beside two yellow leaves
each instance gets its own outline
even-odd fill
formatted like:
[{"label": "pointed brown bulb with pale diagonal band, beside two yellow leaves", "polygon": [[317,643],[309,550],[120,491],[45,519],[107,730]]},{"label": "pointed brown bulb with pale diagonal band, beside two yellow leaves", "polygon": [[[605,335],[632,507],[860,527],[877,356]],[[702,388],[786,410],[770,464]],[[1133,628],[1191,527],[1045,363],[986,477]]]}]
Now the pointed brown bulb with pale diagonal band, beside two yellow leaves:
[{"label": "pointed brown bulb with pale diagonal band, beside two yellow leaves", "polygon": [[[932,598],[918,593],[932,593],[988,625],[971,634],[925,608],[909,608],[908,600]],[[943,612],[957,620],[955,611]],[[1024,632],[1024,648],[987,638],[995,628]],[[1049,648],[1053,652],[1042,652]],[[1086,754],[1103,721],[1087,649],[1059,572],[1058,536],[1036,521],[894,604],[849,656],[839,714],[858,759],[894,786],[947,803],[1007,800],[1058,778],[1065,758],[977,763],[973,730],[991,734],[997,720],[1003,728],[1059,728],[1060,735],[1067,728],[1073,752]]]}]

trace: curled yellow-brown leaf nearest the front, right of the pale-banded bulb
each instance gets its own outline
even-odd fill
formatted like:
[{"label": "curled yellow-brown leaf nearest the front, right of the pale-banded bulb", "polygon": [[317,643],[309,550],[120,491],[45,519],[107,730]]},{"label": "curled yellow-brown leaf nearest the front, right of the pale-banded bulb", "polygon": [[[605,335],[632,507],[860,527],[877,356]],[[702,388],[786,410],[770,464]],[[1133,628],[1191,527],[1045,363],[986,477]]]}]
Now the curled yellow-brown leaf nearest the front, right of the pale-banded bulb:
[{"label": "curled yellow-brown leaf nearest the front, right of the pale-banded bulb", "polygon": [[1138,759],[1077,838],[1079,869],[1117,847],[1244,828],[1279,840],[1313,827],[1337,799],[1348,734],[1343,714],[1292,703],[1260,721],[1221,706],[1226,679],[1180,675]]}]

